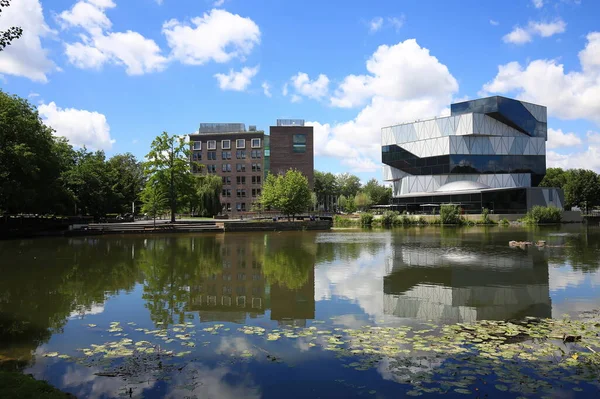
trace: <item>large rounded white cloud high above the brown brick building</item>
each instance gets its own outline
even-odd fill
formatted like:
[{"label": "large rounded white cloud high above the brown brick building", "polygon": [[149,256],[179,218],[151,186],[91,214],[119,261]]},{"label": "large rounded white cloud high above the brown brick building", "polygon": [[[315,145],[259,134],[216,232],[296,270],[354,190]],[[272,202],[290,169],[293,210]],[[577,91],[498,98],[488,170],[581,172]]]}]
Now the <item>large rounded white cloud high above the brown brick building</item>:
[{"label": "large rounded white cloud high above the brown brick building", "polygon": [[163,25],[171,57],[189,65],[244,59],[260,42],[260,29],[250,18],[213,9],[191,24],[172,19]]}]

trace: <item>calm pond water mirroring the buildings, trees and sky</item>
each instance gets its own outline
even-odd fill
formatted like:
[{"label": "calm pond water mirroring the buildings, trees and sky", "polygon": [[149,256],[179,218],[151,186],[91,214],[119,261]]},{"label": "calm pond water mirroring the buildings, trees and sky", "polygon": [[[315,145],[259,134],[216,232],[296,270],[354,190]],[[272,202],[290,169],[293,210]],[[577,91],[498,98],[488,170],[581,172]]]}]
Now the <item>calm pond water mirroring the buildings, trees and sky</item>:
[{"label": "calm pond water mirroring the buildings, trees and sky", "polygon": [[[539,239],[549,247],[508,247]],[[0,361],[80,398],[433,397],[415,380],[450,380],[451,358],[363,367],[362,353],[319,340],[364,326],[577,316],[600,308],[599,268],[600,228],[575,225],[0,242]],[[121,352],[94,352],[107,342]],[[394,371],[402,362],[409,377]],[[494,389],[508,377],[492,366],[471,397],[537,396]],[[550,397],[597,387],[555,386]]]}]

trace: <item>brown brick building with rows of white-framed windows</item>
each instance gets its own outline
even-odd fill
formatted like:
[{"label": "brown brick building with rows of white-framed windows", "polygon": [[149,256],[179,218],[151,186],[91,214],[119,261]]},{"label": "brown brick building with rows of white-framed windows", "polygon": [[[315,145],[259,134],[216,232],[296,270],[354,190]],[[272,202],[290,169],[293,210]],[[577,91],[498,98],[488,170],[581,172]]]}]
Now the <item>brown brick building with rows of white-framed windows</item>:
[{"label": "brown brick building with rows of white-framed windows", "polygon": [[250,211],[261,194],[266,175],[265,133],[243,123],[201,123],[198,133],[190,134],[194,173],[221,177],[221,204],[224,214]]}]

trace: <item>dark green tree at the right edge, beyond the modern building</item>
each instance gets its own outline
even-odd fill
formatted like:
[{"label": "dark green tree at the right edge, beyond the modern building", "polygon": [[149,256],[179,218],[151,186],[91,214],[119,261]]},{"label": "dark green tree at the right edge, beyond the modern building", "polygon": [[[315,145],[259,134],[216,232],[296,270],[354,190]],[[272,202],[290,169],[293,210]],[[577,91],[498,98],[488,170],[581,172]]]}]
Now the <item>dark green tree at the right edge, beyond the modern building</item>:
[{"label": "dark green tree at the right edge, beyond the modern building", "polygon": [[565,205],[584,208],[600,205],[600,181],[598,175],[587,169],[571,169],[566,172]]}]

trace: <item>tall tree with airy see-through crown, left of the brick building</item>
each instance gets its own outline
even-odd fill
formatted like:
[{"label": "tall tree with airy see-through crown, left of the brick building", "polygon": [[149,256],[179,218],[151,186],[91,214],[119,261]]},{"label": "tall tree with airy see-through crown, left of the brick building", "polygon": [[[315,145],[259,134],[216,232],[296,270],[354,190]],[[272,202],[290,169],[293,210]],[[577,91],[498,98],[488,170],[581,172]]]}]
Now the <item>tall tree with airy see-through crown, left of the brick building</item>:
[{"label": "tall tree with airy see-through crown, left of the brick building", "polygon": [[175,214],[185,204],[184,197],[189,197],[194,191],[190,154],[184,138],[163,132],[152,141],[150,152],[146,155],[146,174],[152,183],[157,182],[167,193],[171,222],[175,222]]}]

